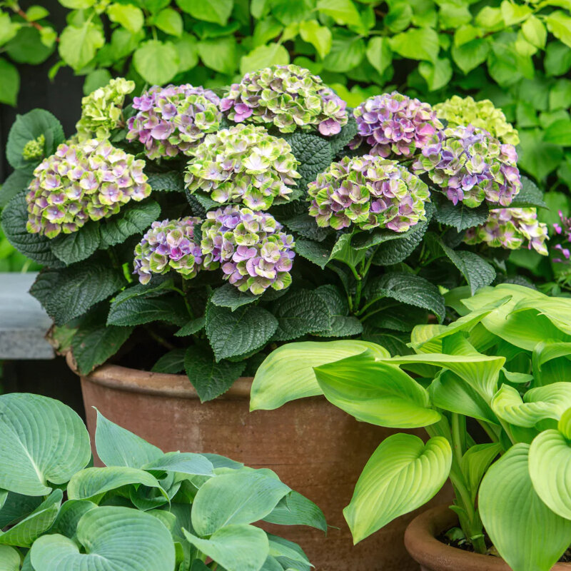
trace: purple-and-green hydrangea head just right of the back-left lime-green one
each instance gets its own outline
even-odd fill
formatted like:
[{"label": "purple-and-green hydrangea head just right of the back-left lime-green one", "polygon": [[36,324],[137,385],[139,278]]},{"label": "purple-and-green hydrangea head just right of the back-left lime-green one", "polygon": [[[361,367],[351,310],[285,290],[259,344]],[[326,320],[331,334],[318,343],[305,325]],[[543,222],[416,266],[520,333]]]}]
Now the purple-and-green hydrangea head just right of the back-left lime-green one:
[{"label": "purple-and-green hydrangea head just right of the back-left lime-green one", "polygon": [[217,131],[220,98],[190,84],[154,86],[133,99],[138,113],[128,120],[128,141],[138,140],[148,158],[189,156],[206,133]]}]

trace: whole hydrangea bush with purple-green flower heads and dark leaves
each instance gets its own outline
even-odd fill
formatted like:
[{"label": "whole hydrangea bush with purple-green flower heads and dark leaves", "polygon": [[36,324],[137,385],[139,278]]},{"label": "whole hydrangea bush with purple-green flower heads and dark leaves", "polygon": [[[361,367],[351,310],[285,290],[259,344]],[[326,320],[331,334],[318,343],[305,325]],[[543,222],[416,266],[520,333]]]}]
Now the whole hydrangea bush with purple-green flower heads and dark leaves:
[{"label": "whole hydrangea bush with purple-green flower heads and dark leaves", "polygon": [[4,233],[44,265],[31,293],[81,374],[185,372],[209,400],[288,340],[402,354],[415,325],[449,318],[445,290],[546,253],[515,148],[428,103],[351,110],[298,66],[216,93],[131,89],[86,96],[68,139],[47,111],[20,116],[7,146]]}]

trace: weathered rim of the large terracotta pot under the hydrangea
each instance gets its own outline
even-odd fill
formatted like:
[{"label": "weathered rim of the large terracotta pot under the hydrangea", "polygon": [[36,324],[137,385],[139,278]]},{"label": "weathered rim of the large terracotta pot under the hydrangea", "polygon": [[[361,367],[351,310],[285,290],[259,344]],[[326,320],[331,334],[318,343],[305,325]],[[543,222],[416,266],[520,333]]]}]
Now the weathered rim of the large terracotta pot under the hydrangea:
[{"label": "weathered rim of the large terracotta pot under the hydrangea", "polygon": [[[128,393],[143,393],[171,398],[198,399],[198,393],[186,375],[169,373],[151,373],[151,371],[131,369],[121,365],[106,363],[91,371],[89,375],[81,375],[71,351],[66,354],[66,362],[71,370],[79,375],[82,382],[94,383],[103,387],[123,390]],[[216,398],[223,400],[250,398],[253,377],[238,378],[226,393]]]}]

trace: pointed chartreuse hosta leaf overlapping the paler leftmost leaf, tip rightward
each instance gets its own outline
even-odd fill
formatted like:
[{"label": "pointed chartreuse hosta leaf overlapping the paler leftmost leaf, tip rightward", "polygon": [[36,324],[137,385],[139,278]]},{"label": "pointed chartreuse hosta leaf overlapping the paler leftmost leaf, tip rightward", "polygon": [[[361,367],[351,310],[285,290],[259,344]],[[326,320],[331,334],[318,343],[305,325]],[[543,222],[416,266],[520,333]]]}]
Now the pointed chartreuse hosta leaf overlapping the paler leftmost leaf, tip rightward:
[{"label": "pointed chartreuse hosta leaf overlapping the paler leftmost leaf, tip rightward", "polygon": [[315,367],[315,376],[325,398],[357,420],[390,428],[440,420],[425,388],[392,363],[375,361],[369,350]]}]

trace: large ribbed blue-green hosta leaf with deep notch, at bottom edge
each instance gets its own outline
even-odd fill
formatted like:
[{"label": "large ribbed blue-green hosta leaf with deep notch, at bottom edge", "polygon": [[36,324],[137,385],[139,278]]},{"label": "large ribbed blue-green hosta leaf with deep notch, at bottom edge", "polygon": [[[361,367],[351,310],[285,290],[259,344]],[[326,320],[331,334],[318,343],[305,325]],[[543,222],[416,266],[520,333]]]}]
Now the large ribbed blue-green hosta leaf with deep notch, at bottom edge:
[{"label": "large ribbed blue-green hosta leaf with deep notch, at bottom edge", "polygon": [[79,546],[44,535],[31,548],[35,571],[173,571],[171,533],[156,517],[128,507],[96,507],[79,520]]}]

